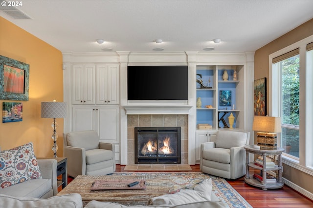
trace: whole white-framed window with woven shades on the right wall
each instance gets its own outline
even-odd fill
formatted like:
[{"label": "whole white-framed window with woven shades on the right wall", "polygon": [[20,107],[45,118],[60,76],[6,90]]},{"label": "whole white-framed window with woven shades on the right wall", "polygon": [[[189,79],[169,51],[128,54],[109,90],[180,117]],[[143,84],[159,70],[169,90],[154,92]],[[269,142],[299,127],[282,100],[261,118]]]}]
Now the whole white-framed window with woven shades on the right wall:
[{"label": "whole white-framed window with woven shades on the right wall", "polygon": [[313,175],[313,36],[271,54],[269,61],[269,114],[282,119],[283,162]]}]

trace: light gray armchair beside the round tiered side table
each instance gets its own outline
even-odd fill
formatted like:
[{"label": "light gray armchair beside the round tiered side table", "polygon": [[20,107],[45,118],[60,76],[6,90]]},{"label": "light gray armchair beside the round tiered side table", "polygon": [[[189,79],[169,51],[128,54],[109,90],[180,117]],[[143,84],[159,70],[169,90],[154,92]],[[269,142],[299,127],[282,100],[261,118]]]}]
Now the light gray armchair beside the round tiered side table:
[{"label": "light gray armchair beside the round tiered side table", "polygon": [[228,179],[246,174],[245,145],[250,132],[219,130],[215,142],[201,144],[200,170]]}]

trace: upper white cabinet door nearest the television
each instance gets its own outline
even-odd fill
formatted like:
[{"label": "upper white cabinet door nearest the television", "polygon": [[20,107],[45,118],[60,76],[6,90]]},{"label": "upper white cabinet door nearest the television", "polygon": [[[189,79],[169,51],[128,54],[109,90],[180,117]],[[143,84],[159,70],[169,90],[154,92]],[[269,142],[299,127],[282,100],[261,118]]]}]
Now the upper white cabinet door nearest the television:
[{"label": "upper white cabinet door nearest the television", "polygon": [[119,103],[119,65],[108,66],[108,104]]}]

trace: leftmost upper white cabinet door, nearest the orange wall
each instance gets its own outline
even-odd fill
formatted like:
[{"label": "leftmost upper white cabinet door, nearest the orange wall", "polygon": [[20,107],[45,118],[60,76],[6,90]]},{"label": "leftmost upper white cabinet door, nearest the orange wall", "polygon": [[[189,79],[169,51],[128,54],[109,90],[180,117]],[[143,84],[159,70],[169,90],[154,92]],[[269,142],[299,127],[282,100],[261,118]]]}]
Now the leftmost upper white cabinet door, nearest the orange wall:
[{"label": "leftmost upper white cabinet door, nearest the orange wall", "polygon": [[72,103],[84,104],[84,65],[72,66]]}]

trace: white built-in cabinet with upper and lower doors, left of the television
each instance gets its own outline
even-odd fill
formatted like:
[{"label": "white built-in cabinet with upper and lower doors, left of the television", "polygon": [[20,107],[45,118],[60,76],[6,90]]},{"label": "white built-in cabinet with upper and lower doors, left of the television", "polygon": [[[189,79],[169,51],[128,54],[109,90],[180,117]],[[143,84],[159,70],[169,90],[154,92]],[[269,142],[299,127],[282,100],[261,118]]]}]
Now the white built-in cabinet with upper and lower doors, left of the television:
[{"label": "white built-in cabinet with upper and lower doors, left of the television", "polygon": [[73,64],[71,131],[119,143],[119,64]]}]

